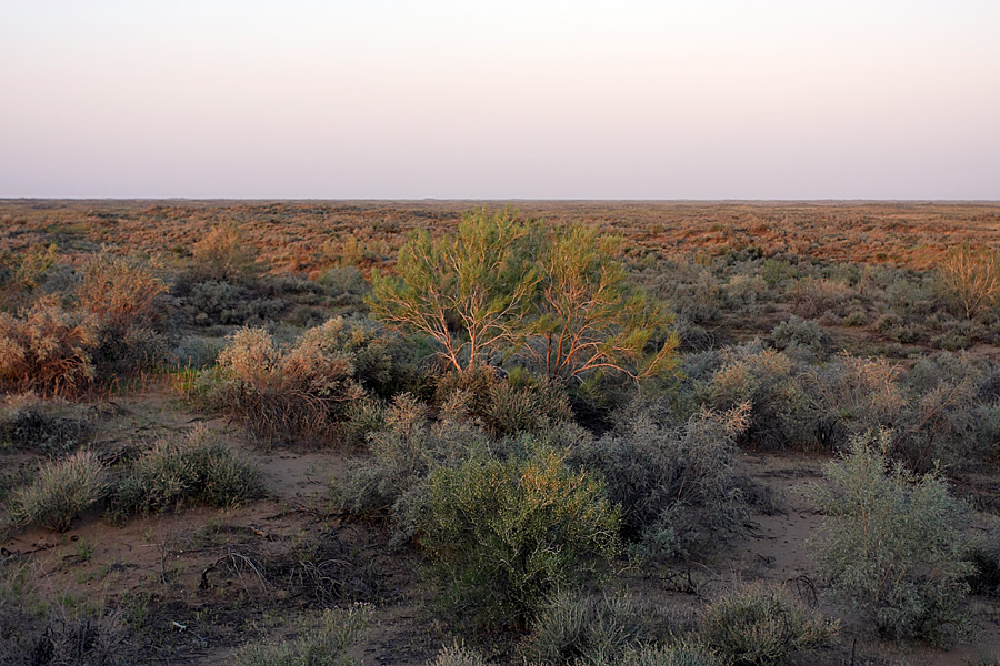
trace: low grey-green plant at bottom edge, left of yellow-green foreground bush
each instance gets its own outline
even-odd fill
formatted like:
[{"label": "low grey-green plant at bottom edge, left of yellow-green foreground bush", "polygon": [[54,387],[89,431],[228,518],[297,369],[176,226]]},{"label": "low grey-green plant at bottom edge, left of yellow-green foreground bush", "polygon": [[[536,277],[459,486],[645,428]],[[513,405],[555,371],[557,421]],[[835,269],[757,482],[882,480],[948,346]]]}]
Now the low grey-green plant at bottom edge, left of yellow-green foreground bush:
[{"label": "low grey-green plant at bottom edge, left of yellow-green foreground bush", "polygon": [[297,640],[251,643],[237,654],[240,666],[350,666],[348,649],[368,626],[371,610],[363,604],[323,610],[319,623]]}]

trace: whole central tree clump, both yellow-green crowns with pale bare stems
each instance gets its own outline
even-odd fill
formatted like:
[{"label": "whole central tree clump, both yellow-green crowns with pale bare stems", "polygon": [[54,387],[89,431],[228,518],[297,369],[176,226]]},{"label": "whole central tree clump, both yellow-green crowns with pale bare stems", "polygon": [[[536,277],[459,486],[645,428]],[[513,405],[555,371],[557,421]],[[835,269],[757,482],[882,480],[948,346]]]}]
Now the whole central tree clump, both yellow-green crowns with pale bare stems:
[{"label": "whole central tree clump, both yellow-green crowns with pale bare stems", "polygon": [[420,331],[459,372],[511,353],[550,380],[643,379],[673,366],[677,335],[614,258],[621,241],[572,225],[542,234],[508,209],[464,215],[458,233],[410,238],[397,276],[372,273],[372,313]]}]

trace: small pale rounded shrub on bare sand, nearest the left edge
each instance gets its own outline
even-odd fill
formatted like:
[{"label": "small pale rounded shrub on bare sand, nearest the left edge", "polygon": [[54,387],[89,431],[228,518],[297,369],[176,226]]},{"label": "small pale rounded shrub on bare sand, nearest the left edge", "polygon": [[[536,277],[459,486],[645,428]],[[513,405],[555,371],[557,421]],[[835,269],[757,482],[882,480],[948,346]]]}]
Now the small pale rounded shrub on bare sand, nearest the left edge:
[{"label": "small pale rounded shrub on bare sand, nearest the left edge", "polygon": [[91,451],[81,451],[43,465],[34,483],[13,494],[14,519],[21,525],[66,532],[73,518],[100,502],[107,491],[100,458]]}]

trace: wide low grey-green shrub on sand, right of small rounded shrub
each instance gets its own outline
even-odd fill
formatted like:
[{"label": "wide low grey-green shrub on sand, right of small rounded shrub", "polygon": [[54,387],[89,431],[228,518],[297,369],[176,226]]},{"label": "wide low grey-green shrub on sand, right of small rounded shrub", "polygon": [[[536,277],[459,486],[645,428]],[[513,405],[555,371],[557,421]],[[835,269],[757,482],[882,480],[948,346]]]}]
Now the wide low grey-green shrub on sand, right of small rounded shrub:
[{"label": "wide low grey-green shrub on sand, right of small rounded shrub", "polygon": [[113,513],[160,512],[183,503],[236,506],[263,495],[260,473],[200,425],[181,441],[160,441],[119,482]]}]

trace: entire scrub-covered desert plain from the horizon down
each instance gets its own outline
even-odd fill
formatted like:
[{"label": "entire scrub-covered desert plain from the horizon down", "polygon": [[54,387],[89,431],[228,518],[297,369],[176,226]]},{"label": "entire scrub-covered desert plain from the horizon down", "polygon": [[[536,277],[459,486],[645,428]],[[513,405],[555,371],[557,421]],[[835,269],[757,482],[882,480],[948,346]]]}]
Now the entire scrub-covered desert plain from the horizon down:
[{"label": "entire scrub-covered desert plain from the horizon down", "polygon": [[0,202],[0,665],[1000,663],[998,222]]}]

